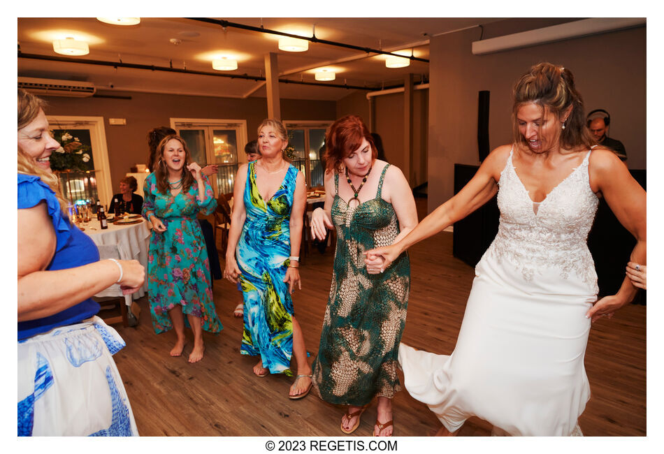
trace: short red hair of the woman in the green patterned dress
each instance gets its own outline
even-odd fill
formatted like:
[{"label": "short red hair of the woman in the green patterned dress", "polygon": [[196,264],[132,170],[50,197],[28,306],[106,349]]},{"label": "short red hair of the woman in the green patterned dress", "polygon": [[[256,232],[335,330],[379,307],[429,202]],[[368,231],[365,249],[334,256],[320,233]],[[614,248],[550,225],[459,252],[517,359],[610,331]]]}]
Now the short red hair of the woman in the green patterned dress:
[{"label": "short red hair of the woman in the green patterned dress", "polygon": [[325,135],[325,168],[329,172],[340,173],[343,160],[362,145],[366,139],[371,147],[371,159],[375,161],[378,150],[373,137],[358,115],[346,115],[331,124]]}]

